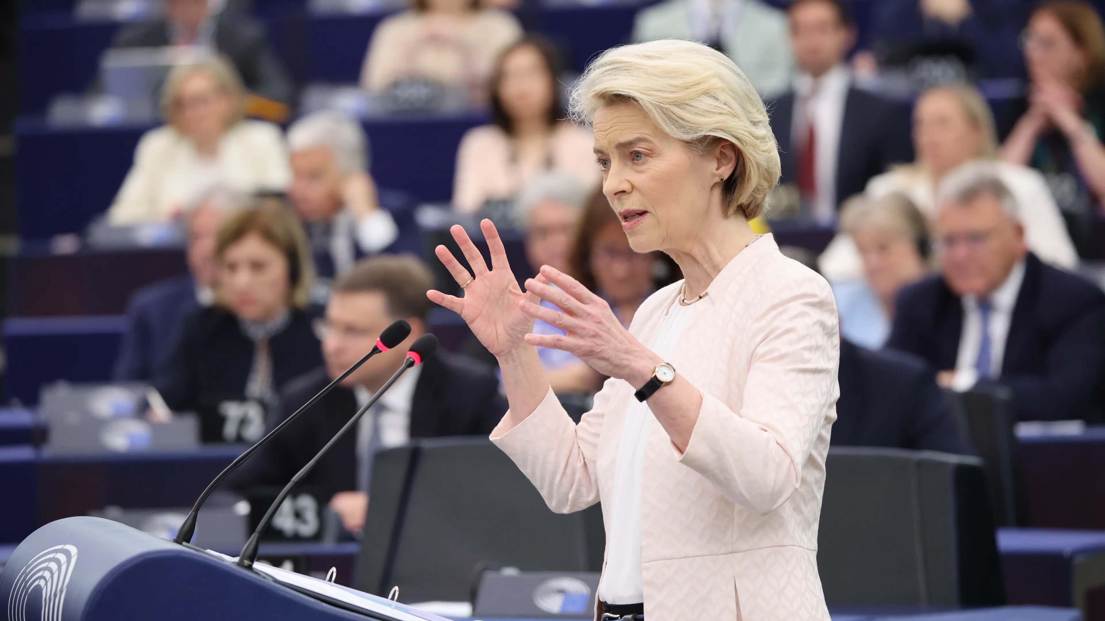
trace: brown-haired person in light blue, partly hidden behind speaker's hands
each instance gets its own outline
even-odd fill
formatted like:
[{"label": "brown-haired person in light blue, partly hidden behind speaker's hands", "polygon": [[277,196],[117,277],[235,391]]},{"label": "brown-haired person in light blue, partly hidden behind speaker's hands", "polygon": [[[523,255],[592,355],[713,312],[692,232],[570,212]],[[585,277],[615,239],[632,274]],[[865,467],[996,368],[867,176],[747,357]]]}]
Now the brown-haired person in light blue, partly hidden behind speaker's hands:
[{"label": "brown-haired person in light blue, partly hidden behind speaker's hands", "polygon": [[[538,264],[533,266],[536,270],[541,267]],[[587,198],[571,242],[567,267],[565,273],[606,299],[621,325],[627,327],[646,297],[682,277],[666,254],[638,253],[630,248],[621,219],[610,208],[601,190]],[[657,273],[661,276],[657,277]],[[560,312],[549,302],[541,301],[540,305]],[[532,331],[540,335],[566,334],[541,319],[534,320]],[[556,392],[593,392],[602,383],[598,371],[562,349],[538,347],[537,356],[549,386]]]}]

